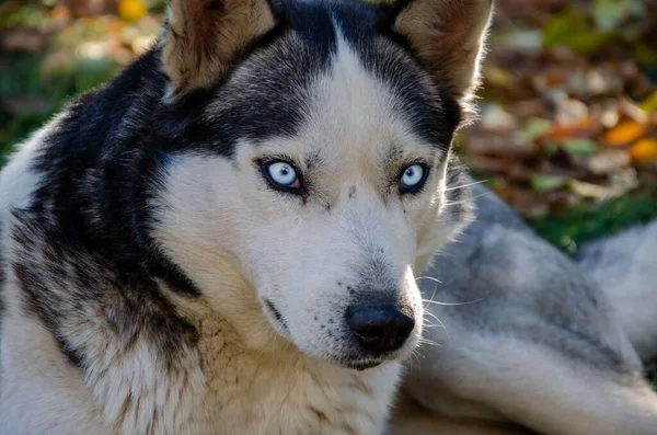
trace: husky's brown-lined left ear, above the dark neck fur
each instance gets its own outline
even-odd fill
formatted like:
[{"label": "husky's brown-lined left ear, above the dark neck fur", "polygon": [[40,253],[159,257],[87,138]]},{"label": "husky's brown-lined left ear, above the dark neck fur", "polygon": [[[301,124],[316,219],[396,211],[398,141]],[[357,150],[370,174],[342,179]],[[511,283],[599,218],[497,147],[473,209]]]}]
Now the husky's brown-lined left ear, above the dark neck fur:
[{"label": "husky's brown-lined left ear, above the dark neck fur", "polygon": [[216,82],[275,24],[268,0],[170,0],[161,42],[170,96]]}]

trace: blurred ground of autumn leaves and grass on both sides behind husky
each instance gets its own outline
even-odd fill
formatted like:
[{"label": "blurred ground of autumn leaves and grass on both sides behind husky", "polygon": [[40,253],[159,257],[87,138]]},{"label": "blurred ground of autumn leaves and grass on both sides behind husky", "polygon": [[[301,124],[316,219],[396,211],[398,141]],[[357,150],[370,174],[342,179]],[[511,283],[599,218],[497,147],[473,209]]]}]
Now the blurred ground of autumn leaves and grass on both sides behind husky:
[{"label": "blurred ground of autumn leaves and grass on both sides behind husky", "polygon": [[[0,4],[0,164],[76,94],[153,43],[162,0]],[[497,0],[474,175],[550,242],[657,216],[657,0]]]}]

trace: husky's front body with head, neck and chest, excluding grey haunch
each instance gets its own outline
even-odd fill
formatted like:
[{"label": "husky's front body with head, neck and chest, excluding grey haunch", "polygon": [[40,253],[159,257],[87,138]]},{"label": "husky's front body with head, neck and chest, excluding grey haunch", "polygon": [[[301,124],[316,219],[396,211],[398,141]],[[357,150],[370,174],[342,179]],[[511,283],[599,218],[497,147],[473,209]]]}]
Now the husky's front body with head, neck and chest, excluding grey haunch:
[{"label": "husky's front body with head, neck and chest, excluding grey haunch", "polygon": [[492,0],[172,0],[0,179],[3,434],[380,434]]}]

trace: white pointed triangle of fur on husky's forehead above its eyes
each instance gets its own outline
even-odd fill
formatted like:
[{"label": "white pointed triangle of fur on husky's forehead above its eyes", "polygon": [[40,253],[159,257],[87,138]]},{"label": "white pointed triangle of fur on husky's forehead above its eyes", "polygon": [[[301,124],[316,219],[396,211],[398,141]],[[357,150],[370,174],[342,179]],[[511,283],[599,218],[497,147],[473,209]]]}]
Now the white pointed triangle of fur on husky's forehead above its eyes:
[{"label": "white pointed triangle of fur on husky's forehead above its eyes", "polygon": [[403,159],[440,159],[445,152],[414,131],[396,92],[365,67],[339,31],[336,38],[331,69],[312,87],[293,141],[300,149],[292,152],[306,156],[309,170],[380,171]]}]

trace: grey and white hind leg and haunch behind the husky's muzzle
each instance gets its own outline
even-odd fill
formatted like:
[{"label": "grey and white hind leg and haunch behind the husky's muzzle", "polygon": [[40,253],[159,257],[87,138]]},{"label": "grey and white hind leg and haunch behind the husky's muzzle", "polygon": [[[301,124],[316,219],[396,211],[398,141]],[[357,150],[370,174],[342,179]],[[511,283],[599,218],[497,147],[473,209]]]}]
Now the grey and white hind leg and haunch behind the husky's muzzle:
[{"label": "grey and white hind leg and haunch behind the husky's muzzle", "polygon": [[442,346],[410,362],[407,391],[437,414],[544,434],[657,433],[657,394],[606,295],[477,193],[479,220],[428,274],[440,283],[420,278],[434,323],[425,337]]}]

